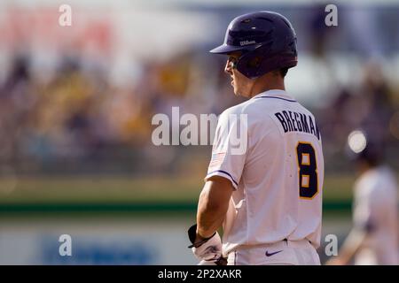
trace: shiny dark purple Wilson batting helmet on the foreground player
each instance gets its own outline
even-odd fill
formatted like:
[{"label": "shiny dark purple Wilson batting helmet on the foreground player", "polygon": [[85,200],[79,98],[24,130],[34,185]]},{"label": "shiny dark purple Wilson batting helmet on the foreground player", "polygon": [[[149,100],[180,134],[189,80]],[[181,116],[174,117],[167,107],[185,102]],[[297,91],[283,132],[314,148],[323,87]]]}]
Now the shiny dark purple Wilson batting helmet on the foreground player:
[{"label": "shiny dark purple Wilson batting helmet on the foreground player", "polygon": [[298,63],[296,34],[284,16],[273,11],[256,11],[233,19],[215,54],[241,51],[237,69],[250,79],[270,71],[291,68]]}]

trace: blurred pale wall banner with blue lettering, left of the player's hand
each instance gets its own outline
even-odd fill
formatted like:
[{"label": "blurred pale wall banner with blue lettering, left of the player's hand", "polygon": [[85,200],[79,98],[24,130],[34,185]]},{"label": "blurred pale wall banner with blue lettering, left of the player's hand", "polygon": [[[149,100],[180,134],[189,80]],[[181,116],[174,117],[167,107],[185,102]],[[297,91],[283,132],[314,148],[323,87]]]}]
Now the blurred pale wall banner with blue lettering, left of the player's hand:
[{"label": "blurred pale wall banner with blue lettering, left of the player's hand", "polygon": [[0,264],[197,264],[184,219],[1,221]]}]

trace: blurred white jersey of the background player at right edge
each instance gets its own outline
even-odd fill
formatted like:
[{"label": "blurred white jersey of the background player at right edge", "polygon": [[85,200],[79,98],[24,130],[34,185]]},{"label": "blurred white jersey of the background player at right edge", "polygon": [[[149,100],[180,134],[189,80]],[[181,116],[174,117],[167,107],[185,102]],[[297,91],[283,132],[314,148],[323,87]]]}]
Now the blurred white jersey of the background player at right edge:
[{"label": "blurred white jersey of the background player at right edge", "polygon": [[397,185],[387,166],[364,172],[356,180],[354,223],[369,232],[355,264],[398,263]]}]

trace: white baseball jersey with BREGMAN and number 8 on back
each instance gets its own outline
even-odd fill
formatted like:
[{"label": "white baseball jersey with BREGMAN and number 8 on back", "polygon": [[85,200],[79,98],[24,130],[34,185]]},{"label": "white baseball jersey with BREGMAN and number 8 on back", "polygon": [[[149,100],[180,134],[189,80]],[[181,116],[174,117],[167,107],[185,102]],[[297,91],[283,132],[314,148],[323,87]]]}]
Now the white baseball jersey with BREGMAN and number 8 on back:
[{"label": "white baseball jersey with BREGMAN and number 8 on back", "polygon": [[223,111],[205,180],[215,175],[235,188],[223,223],[225,256],[239,245],[285,239],[319,246],[321,136],[314,116],[285,91],[269,90]]}]

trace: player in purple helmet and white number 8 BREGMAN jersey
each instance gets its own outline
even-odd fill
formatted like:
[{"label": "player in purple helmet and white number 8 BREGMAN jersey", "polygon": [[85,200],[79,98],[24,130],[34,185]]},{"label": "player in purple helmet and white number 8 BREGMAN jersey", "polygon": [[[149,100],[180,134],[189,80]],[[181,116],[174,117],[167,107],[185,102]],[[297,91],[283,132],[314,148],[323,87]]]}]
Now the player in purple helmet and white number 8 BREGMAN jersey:
[{"label": "player in purple helmet and white number 8 BREGMAN jersey", "polygon": [[320,264],[322,142],[315,117],[285,90],[297,65],[291,23],[272,11],[241,15],[210,52],[228,56],[224,71],[247,100],[219,117],[190,248],[207,264]]}]

